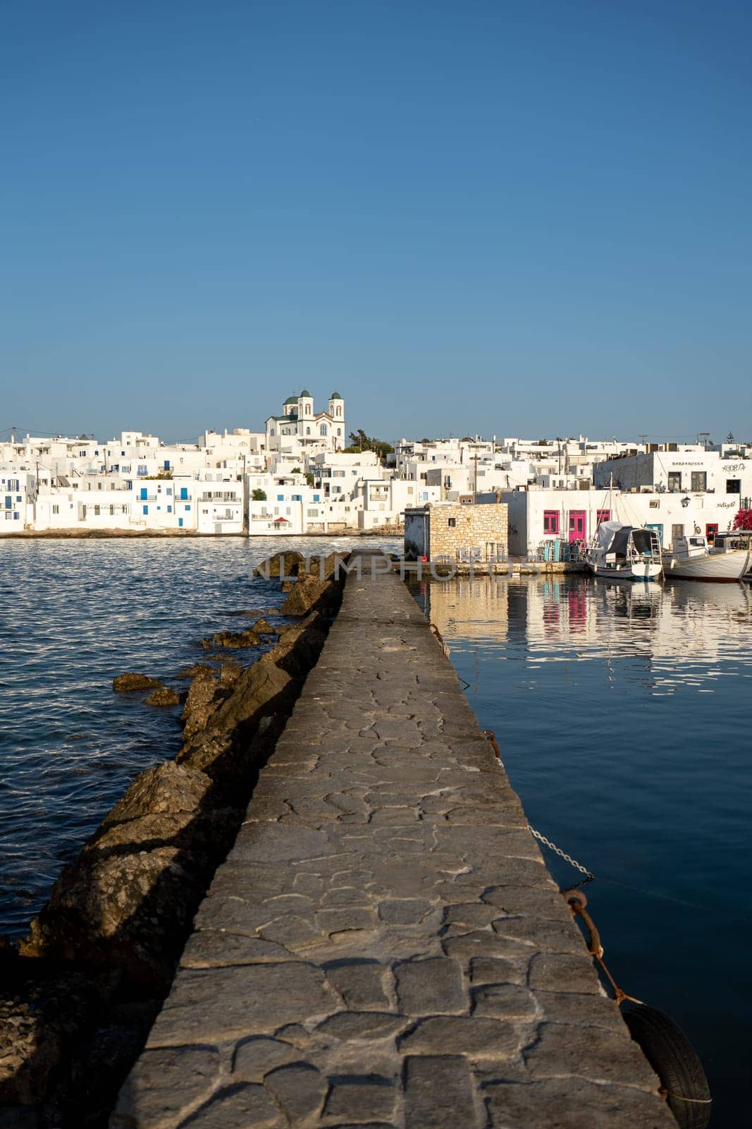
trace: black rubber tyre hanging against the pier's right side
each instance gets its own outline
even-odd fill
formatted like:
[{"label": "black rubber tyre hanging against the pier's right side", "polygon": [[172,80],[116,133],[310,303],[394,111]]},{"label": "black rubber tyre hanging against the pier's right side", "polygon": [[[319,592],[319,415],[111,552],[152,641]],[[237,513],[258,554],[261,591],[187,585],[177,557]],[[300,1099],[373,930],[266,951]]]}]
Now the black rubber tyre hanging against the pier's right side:
[{"label": "black rubber tyre hanging against the pier's right side", "polygon": [[678,1023],[647,1004],[628,1005],[622,1018],[629,1034],[661,1079],[665,1097],[681,1129],[706,1129],[713,1109],[702,1065]]}]

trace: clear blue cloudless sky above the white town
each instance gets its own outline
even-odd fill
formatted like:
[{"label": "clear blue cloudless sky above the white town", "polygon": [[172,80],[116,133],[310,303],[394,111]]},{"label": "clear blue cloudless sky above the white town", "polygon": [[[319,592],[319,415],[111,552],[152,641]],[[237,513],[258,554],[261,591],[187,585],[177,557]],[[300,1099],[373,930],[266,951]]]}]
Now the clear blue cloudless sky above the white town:
[{"label": "clear blue cloudless sky above the white town", "polygon": [[0,0],[0,429],[752,438],[751,58],[746,0]]}]

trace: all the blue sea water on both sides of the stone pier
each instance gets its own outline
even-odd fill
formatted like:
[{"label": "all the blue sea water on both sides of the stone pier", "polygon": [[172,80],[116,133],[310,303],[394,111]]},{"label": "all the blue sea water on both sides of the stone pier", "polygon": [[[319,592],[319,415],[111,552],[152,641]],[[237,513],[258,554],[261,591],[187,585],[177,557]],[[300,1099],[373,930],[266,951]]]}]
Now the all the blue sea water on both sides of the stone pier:
[{"label": "all the blue sea water on both sides of the stone pier", "polygon": [[[280,548],[0,542],[0,931],[26,931],[130,780],[179,747],[179,709],[114,694],[114,675],[176,684],[203,637],[247,625],[233,613],[278,605],[251,570]],[[752,590],[584,577],[413,590],[531,823],[594,870],[590,908],[617,981],[690,1035],[714,1129],[747,1124]],[[569,885],[574,872],[546,855]]]}]

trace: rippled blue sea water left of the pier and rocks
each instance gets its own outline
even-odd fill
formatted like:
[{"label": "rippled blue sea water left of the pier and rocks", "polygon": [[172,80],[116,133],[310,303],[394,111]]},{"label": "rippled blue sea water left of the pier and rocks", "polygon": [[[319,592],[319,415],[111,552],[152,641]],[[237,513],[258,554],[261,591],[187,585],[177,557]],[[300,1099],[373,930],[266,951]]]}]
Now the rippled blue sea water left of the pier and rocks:
[{"label": "rippled blue sea water left of the pier and rocks", "polygon": [[[178,689],[202,638],[278,606],[253,577],[271,552],[393,541],[0,540],[0,933],[24,934],[129,782],[180,747],[180,707],[113,693],[124,671]],[[274,616],[271,616],[274,620]],[[229,651],[228,657],[237,657]],[[253,657],[253,653],[249,657]]]}]

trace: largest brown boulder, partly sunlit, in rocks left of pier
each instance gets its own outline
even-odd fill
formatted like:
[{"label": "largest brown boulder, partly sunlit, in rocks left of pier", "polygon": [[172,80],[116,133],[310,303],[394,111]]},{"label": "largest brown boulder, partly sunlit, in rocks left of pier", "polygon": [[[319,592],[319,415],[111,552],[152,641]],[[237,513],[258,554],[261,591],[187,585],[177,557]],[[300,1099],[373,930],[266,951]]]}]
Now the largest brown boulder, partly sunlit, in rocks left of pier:
[{"label": "largest brown boulder, partly sunlit, in rocks left of pier", "polygon": [[138,777],[52,889],[23,956],[117,966],[165,990],[240,813],[211,780],[174,763]]}]

